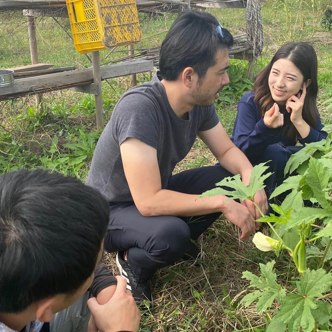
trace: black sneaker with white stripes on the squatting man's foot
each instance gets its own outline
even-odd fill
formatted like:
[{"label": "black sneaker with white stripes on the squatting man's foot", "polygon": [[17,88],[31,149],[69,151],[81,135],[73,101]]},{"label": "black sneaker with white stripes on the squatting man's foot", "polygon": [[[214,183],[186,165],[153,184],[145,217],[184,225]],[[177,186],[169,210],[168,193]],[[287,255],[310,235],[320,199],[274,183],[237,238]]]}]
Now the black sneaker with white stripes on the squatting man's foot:
[{"label": "black sneaker with white stripes on the squatting man's foot", "polygon": [[119,251],[117,254],[117,267],[120,271],[120,276],[127,280],[127,290],[130,290],[136,302],[148,300],[152,302],[152,295],[149,282],[139,283],[138,277],[130,269],[127,262],[124,261],[124,251]]}]

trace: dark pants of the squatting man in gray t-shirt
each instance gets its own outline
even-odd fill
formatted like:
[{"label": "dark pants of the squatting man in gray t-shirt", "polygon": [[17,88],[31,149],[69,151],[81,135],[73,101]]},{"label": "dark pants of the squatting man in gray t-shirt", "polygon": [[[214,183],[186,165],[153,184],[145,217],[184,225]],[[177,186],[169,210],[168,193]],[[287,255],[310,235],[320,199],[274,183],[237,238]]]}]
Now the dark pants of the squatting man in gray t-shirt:
[{"label": "dark pants of the squatting man in gray t-shirt", "polygon": [[[169,178],[168,190],[199,195],[231,176],[221,166],[183,171]],[[109,252],[128,250],[127,260],[141,282],[161,267],[178,261],[221,213],[194,217],[145,217],[132,203],[110,204],[110,222],[105,236]]]}]

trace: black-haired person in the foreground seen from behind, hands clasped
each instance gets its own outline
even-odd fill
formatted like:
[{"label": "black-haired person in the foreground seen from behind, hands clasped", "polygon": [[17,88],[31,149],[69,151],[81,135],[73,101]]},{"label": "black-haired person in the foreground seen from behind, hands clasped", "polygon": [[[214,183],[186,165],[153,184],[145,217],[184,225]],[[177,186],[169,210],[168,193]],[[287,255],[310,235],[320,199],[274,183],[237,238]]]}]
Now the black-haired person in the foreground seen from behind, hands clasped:
[{"label": "black-haired person in the foreground seen from behind, hands clasped", "polygon": [[0,177],[1,332],[85,332],[88,305],[102,331],[138,330],[126,280],[101,262],[108,220],[108,202],[78,179],[42,169]]}]

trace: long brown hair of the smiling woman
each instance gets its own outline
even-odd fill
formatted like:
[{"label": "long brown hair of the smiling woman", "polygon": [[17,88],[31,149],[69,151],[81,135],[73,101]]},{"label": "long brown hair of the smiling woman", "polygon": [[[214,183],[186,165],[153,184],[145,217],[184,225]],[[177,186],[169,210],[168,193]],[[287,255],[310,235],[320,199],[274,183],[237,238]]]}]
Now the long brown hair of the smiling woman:
[{"label": "long brown hair of the smiling woman", "polygon": [[[281,46],[271,62],[256,76],[253,91],[260,115],[263,116],[275,103],[269,87],[269,75],[273,64],[279,59],[292,61],[302,73],[304,82],[311,79],[311,83],[307,87],[302,118],[311,127],[315,127],[317,124],[316,97],[318,93],[317,56],[313,47],[305,42],[290,42]],[[298,138],[298,131],[291,122],[284,125],[284,134],[294,140]]]}]

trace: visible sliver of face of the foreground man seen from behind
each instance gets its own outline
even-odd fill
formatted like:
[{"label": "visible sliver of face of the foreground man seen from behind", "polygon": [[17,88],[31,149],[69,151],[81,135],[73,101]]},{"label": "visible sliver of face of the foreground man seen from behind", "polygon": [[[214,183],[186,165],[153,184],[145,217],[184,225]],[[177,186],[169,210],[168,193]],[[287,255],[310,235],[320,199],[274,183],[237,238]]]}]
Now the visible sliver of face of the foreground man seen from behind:
[{"label": "visible sliver of face of the foreground man seen from behind", "polygon": [[[104,251],[104,241],[102,242],[100,247],[96,267],[99,264],[100,260],[102,259],[103,251]],[[56,301],[52,306],[52,312],[56,313],[62,311],[63,309],[68,308],[70,305],[76,302],[91,286],[93,278],[94,278],[94,273],[92,273],[92,275],[83,283],[83,285],[73,293],[55,295]]]}]

